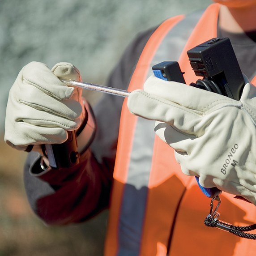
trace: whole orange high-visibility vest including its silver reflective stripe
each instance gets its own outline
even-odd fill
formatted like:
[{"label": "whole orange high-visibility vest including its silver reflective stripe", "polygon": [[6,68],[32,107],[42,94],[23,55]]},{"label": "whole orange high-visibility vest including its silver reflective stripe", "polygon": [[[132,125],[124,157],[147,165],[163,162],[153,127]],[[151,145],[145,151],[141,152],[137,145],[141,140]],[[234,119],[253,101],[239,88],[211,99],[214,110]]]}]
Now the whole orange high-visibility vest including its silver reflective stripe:
[{"label": "whole orange high-visibility vest including its silver reflective stripe", "polygon": [[[151,67],[168,60],[179,62],[188,84],[195,82],[187,51],[217,36],[219,8],[212,4],[205,12],[163,22],[145,45],[128,90],[142,89]],[[224,192],[221,199],[221,220],[240,226],[256,222],[254,205]],[[155,136],[154,121],[132,115],[125,100],[105,255],[256,255],[255,241],[204,225],[209,205],[195,178],[181,172],[173,149]]]}]

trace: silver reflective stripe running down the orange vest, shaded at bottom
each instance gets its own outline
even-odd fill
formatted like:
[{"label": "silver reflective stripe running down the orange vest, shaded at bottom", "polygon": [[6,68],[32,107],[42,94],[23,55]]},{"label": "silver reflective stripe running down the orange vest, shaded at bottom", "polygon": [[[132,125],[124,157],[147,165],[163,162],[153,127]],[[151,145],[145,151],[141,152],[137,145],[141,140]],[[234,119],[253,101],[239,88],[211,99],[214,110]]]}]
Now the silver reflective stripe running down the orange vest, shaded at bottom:
[{"label": "silver reflective stripe running down the orange vest, shaded at bottom", "polygon": [[[180,21],[163,39],[151,67],[162,61],[177,61],[187,40],[202,15],[193,13]],[[148,183],[154,147],[154,121],[138,118],[131,159],[119,218],[118,256],[136,256],[140,252],[141,236],[147,202]]]}]

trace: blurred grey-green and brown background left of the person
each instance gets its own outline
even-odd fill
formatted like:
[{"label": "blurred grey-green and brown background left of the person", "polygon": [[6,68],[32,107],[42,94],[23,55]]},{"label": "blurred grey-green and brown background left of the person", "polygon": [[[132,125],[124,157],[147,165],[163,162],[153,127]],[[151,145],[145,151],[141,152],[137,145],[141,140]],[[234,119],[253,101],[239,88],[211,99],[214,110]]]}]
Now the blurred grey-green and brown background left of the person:
[{"label": "blurred grey-green and brown background left of the person", "polygon": [[[0,256],[100,256],[107,211],[81,225],[47,227],[23,187],[26,153],[4,143],[8,92],[30,61],[66,61],[84,81],[104,85],[128,43],[168,17],[211,0],[0,0]],[[94,104],[98,94],[86,92]]]}]

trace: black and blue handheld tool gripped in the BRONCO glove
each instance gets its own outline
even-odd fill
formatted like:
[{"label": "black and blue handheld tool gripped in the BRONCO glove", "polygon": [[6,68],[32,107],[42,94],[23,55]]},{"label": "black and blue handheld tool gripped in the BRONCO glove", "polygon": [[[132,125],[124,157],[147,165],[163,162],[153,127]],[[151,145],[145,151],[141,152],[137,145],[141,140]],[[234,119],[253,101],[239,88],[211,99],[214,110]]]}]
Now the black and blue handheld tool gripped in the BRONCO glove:
[{"label": "black and blue handheld tool gripped in the BRONCO glove", "polygon": [[[213,38],[187,53],[196,76],[203,77],[190,86],[235,100],[240,99],[244,86],[243,74],[229,38]],[[178,62],[162,62],[154,65],[152,69],[154,75],[160,79],[185,84]],[[218,188],[202,187],[198,177],[196,181],[208,197],[213,198],[221,192]]]}]

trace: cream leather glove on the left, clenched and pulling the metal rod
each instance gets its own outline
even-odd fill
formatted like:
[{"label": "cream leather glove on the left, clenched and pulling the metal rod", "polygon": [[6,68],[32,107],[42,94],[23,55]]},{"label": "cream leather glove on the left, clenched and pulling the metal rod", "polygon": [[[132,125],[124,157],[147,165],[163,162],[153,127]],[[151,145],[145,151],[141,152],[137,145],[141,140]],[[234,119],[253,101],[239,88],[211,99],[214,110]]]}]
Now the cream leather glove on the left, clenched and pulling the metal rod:
[{"label": "cream leather glove on the left, clenched and pulling the metal rod", "polygon": [[31,62],[18,74],[6,109],[4,141],[13,148],[62,143],[67,131],[76,130],[85,117],[81,88],[64,85],[59,78],[80,80],[70,63],[58,63],[51,70]]}]

